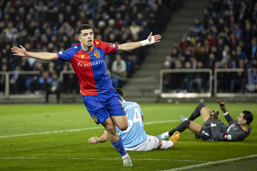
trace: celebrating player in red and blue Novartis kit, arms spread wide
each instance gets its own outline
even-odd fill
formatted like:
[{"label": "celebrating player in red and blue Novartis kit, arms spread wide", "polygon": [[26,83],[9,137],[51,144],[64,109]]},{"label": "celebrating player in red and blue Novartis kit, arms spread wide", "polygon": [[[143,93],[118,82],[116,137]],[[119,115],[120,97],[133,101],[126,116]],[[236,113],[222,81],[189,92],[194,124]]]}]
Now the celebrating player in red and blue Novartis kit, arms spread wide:
[{"label": "celebrating player in red and blue Novartis kit, arms spread wide", "polygon": [[17,56],[28,56],[44,61],[69,61],[79,79],[80,92],[87,111],[95,123],[97,125],[101,123],[107,131],[110,142],[122,156],[123,166],[132,166],[122,138],[115,129],[116,125],[120,130],[127,130],[128,121],[122,100],[112,87],[112,81],[107,74],[105,56],[116,51],[130,51],[157,43],[161,36],[159,34],[152,36],[151,32],[144,41],[117,45],[94,39],[92,27],[87,24],[79,26],[76,32],[80,43],[58,53],[27,52],[21,45],[20,48],[12,47],[11,51]]}]

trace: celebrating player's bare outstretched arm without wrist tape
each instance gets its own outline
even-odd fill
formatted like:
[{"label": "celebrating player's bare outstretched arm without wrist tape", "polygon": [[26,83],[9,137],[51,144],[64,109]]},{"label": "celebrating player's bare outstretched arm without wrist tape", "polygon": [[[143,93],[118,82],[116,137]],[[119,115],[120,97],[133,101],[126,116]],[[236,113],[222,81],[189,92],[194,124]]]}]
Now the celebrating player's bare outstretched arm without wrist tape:
[{"label": "celebrating player's bare outstretched arm without wrist tape", "polygon": [[48,53],[48,52],[27,52],[26,49],[20,45],[21,48],[13,46],[11,51],[14,53],[13,55],[16,56],[28,56],[30,58],[40,59],[44,61],[52,61],[57,60],[56,53]]}]

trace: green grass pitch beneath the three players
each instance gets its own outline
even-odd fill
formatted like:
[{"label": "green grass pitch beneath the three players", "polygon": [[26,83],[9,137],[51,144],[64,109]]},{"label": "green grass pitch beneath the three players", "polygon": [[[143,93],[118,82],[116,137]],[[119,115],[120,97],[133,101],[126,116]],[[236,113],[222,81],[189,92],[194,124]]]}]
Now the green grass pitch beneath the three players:
[{"label": "green grass pitch beneath the three players", "polygon": [[[219,110],[219,118],[228,125],[218,104],[206,105],[211,110]],[[158,135],[170,131],[180,123],[179,121],[169,122],[169,120],[178,120],[180,115],[190,116],[197,104],[141,104],[140,106],[144,113],[144,123],[148,123],[144,126],[146,133]],[[133,167],[123,167],[122,159],[110,141],[98,144],[87,143],[90,137],[101,136],[103,129],[102,125],[94,123],[83,104],[0,105],[0,137],[93,128],[0,138],[0,170],[170,170],[248,155],[255,155],[255,157],[237,162],[254,158],[256,161],[256,104],[228,103],[226,108],[234,119],[243,110],[250,110],[253,113],[252,132],[244,141],[203,141],[195,139],[190,130],[185,130],[180,133],[180,140],[173,149],[128,151]],[[156,121],[167,121],[167,123],[156,123]],[[203,124],[201,117],[195,121]],[[216,163],[201,167],[213,165],[223,164]],[[249,165],[242,166],[242,168],[245,167]],[[249,169],[251,167],[256,168],[256,166],[250,166]]]}]

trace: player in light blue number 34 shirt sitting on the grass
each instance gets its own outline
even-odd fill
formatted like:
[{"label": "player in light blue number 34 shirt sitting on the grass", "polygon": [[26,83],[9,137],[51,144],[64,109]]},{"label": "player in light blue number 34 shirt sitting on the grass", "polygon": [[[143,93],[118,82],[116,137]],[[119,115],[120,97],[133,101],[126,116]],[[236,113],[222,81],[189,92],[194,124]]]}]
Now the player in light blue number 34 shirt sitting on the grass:
[{"label": "player in light blue number 34 shirt sitting on the grass", "polygon": [[[154,149],[167,149],[173,148],[174,145],[177,143],[180,135],[179,132],[176,131],[173,133],[173,136],[170,138],[169,141],[159,140],[158,138],[147,135],[144,130],[144,116],[140,105],[136,102],[126,101],[123,98],[123,92],[119,88],[115,88],[117,93],[120,95],[122,99],[122,103],[124,104],[129,127],[127,130],[122,131],[117,126],[117,132],[123,140],[125,150],[130,151],[148,151]],[[104,134],[98,137],[91,137],[89,138],[89,143],[103,143],[107,141],[108,133],[105,131]]]}]

